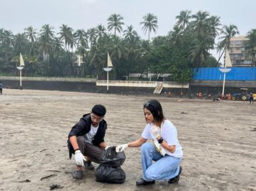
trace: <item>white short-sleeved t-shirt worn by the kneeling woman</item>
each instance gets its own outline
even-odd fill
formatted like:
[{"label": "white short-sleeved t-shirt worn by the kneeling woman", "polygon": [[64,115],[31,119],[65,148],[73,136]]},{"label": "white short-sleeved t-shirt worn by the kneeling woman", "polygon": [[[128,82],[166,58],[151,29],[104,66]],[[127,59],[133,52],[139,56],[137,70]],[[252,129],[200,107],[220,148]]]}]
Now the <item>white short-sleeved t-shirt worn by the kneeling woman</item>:
[{"label": "white short-sleeved t-shirt worn by the kneeling woman", "polygon": [[[152,126],[154,126],[153,123],[146,125],[144,131],[142,132],[143,138],[156,140],[156,138],[152,134]],[[179,144],[179,140],[177,139],[177,130],[175,126],[171,123],[171,121],[169,121],[168,119],[165,119],[161,126],[161,136],[169,146],[175,145],[174,153],[171,153],[165,149],[167,155],[177,158],[183,157],[182,146]]]}]

